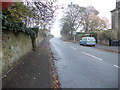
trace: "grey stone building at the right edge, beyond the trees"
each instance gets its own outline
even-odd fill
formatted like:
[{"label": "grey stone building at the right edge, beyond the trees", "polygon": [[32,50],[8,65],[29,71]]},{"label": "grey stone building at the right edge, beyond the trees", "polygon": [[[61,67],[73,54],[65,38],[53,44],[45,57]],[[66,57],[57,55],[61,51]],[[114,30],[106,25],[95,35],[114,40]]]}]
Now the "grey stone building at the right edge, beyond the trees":
[{"label": "grey stone building at the right edge, beyond the trees", "polygon": [[116,8],[111,11],[112,14],[112,30],[115,30],[120,40],[120,0],[116,0]]}]

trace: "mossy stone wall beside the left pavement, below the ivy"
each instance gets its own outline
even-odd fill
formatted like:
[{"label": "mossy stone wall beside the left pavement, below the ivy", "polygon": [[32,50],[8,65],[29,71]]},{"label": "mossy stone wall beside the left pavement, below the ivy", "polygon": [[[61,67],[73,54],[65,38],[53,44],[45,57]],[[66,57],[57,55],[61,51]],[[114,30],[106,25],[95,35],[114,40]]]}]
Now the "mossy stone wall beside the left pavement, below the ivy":
[{"label": "mossy stone wall beside the left pavement, below the ivy", "polygon": [[[39,39],[38,39],[39,38]],[[38,36],[37,45],[43,40]],[[25,33],[15,34],[3,31],[2,34],[2,74],[12,68],[20,58],[32,50],[31,38]]]}]

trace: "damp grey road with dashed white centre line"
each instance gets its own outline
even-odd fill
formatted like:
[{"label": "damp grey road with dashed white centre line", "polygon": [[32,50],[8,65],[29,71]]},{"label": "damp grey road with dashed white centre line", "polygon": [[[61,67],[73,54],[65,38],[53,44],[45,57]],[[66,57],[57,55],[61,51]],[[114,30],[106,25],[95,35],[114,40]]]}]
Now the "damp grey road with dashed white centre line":
[{"label": "damp grey road with dashed white centre line", "polygon": [[118,88],[118,54],[50,40],[61,88]]}]

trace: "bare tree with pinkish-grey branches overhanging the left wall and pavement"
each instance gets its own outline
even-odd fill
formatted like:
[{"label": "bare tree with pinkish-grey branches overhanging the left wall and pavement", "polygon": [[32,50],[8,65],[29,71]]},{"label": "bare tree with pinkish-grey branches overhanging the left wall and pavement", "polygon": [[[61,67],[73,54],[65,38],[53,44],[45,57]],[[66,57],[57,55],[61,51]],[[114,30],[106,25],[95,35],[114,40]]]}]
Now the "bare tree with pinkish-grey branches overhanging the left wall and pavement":
[{"label": "bare tree with pinkish-grey branches overhanging the left wall and pavement", "polygon": [[54,18],[53,14],[55,10],[58,8],[53,5],[55,1],[56,0],[41,0],[29,2],[26,0],[25,5],[32,11],[32,18],[28,17],[27,20],[25,20],[27,26],[42,27],[43,24],[49,24],[49,22]]}]

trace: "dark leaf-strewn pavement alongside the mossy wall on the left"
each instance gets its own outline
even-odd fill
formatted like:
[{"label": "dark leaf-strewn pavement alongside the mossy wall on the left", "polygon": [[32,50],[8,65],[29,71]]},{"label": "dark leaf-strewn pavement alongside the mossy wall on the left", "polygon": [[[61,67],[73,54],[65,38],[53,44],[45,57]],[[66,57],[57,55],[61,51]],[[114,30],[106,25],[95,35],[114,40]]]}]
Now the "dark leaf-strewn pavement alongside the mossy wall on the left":
[{"label": "dark leaf-strewn pavement alongside the mossy wall on the left", "polygon": [[36,51],[31,51],[2,78],[2,88],[53,88],[46,38]]}]

